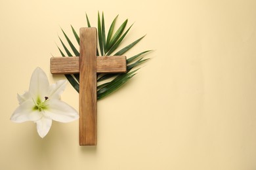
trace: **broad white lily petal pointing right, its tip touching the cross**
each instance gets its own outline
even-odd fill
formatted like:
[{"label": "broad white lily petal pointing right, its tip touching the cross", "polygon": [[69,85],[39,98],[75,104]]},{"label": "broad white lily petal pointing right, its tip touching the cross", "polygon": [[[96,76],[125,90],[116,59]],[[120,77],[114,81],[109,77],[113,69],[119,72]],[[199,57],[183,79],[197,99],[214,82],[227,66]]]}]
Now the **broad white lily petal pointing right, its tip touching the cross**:
[{"label": "broad white lily petal pointing right, its tip touching the cross", "polygon": [[49,99],[48,109],[44,110],[44,115],[58,122],[71,122],[79,118],[77,111],[58,99]]}]

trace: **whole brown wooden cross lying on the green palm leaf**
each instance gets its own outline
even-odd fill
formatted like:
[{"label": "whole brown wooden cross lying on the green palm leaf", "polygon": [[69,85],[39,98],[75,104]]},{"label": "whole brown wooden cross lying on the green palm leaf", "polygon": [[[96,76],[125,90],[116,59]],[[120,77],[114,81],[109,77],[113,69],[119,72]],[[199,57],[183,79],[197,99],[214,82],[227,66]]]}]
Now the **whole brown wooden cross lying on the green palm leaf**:
[{"label": "whole brown wooden cross lying on the green palm leaf", "polygon": [[51,58],[52,74],[79,73],[79,145],[96,145],[96,73],[125,73],[125,56],[97,56],[96,28],[80,28],[80,56]]}]

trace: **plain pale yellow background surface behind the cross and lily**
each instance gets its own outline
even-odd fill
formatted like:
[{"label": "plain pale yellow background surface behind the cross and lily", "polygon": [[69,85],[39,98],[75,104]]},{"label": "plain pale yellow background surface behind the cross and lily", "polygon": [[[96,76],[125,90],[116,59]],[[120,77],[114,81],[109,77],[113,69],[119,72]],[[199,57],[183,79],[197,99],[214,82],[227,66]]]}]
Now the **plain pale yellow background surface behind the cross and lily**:
[{"label": "plain pale yellow background surface behind the cross and lily", "polygon": [[[256,169],[256,1],[131,0],[0,2],[0,169]],[[127,86],[98,102],[98,145],[79,146],[78,121],[54,122],[44,139],[35,124],[9,120],[16,93],[35,67],[51,83],[60,27],[106,27],[129,18],[127,56],[154,49]],[[72,39],[74,41],[74,39]],[[62,99],[78,109],[68,84]]]}]

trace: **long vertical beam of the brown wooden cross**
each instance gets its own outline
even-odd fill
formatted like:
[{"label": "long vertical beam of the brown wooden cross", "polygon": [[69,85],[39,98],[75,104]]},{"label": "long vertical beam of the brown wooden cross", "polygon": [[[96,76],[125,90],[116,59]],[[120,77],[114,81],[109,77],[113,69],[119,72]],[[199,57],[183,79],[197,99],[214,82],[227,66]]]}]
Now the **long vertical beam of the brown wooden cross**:
[{"label": "long vertical beam of the brown wooden cross", "polygon": [[80,29],[79,144],[96,145],[96,28]]}]

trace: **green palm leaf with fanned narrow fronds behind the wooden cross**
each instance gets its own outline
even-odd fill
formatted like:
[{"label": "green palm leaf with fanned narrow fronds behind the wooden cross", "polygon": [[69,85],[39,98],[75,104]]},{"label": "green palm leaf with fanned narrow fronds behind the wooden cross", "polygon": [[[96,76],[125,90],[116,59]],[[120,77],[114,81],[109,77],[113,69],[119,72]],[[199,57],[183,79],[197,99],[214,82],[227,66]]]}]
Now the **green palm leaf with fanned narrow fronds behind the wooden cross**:
[{"label": "green palm leaf with fanned narrow fronds behind the wooden cross", "polygon": [[[111,55],[117,48],[121,46],[121,42],[125,39],[127,34],[129,33],[129,30],[131,29],[132,25],[129,26],[129,28],[125,31],[125,27],[127,25],[128,20],[125,20],[117,29],[117,31],[114,31],[114,27],[116,25],[116,20],[117,20],[118,15],[114,20],[112,21],[110,28],[108,29],[108,35],[106,35],[106,28],[105,28],[105,20],[104,20],[104,13],[102,12],[102,18],[100,20],[100,14],[98,12],[98,46],[100,47],[100,54],[101,56],[109,56]],[[87,20],[87,26],[91,27],[89,17],[86,14],[86,20]],[[71,25],[72,27],[72,25]],[[125,32],[124,32],[125,31]],[[79,44],[79,36],[77,35],[74,27],[72,27],[72,32],[74,34],[74,37]],[[124,33],[123,33],[124,32]],[[79,56],[79,51],[75,48],[74,44],[70,41],[64,30],[62,29],[62,33],[64,34],[64,37],[66,41],[68,42],[69,47],[71,48],[72,52],[74,52],[75,56]],[[128,44],[127,46],[121,48],[114,56],[121,56],[125,54],[128,50],[131,50],[135,44],[140,42],[143,38],[140,37],[136,41],[131,42],[131,44]],[[59,37],[60,39],[60,37]],[[66,52],[67,56],[73,56],[66,46],[62,39],[60,39],[60,42],[62,44],[62,47],[64,48],[64,51]],[[58,47],[58,46],[57,46]],[[58,50],[60,51],[60,54],[62,56],[65,56],[64,52],[58,47]],[[123,84],[125,84],[127,81],[129,81],[133,76],[137,74],[138,69],[135,69],[134,71],[133,68],[138,67],[142,63],[148,61],[148,59],[143,59],[143,56],[145,54],[148,54],[148,52],[151,52],[152,50],[146,50],[143,52],[140,52],[139,54],[132,56],[131,58],[127,57],[127,73],[120,74],[99,74],[97,82],[101,82],[102,80],[105,80],[103,84],[100,84],[97,86],[97,98],[102,99],[111,93],[115,92],[118,90]],[[97,49],[97,56],[99,55],[98,49]],[[74,74],[74,75],[65,75],[70,84],[75,88],[77,92],[79,92],[79,74]]]}]

